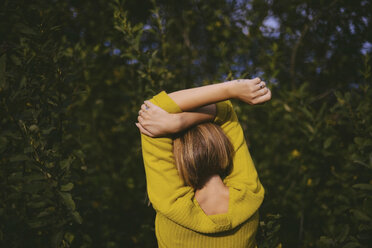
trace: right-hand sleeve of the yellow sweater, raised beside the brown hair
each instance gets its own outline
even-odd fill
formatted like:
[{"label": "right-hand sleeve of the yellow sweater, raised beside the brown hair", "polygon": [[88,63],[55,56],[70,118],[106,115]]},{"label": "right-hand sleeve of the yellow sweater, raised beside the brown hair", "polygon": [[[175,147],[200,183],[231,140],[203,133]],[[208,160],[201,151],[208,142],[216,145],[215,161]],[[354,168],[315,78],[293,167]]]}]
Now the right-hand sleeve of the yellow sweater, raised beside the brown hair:
[{"label": "right-hand sleeve of the yellow sweater, raised beside the brown hair", "polygon": [[217,103],[214,122],[229,137],[235,151],[232,171],[224,183],[230,190],[231,224],[237,226],[258,210],[264,198],[264,188],[249,153],[243,129],[229,100]]}]

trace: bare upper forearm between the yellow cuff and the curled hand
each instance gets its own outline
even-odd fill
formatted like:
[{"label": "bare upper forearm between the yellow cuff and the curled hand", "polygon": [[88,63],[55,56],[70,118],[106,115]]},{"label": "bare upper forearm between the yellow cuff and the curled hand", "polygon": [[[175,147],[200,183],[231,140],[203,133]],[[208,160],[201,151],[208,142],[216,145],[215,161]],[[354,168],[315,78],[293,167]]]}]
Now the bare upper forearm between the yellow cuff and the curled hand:
[{"label": "bare upper forearm between the yellow cuff and the curled hand", "polygon": [[197,88],[185,89],[168,94],[182,109],[191,111],[208,104],[233,98],[232,83],[224,82]]}]

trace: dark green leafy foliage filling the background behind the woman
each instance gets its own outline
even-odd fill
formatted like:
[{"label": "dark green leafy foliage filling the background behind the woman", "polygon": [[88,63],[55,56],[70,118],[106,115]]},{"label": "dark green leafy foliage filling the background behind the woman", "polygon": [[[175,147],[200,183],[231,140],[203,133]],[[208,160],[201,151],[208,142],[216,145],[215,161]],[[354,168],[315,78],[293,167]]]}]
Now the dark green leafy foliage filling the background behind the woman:
[{"label": "dark green leafy foliage filling the background behind the woman", "polygon": [[260,247],[372,243],[369,1],[2,5],[1,247],[155,247],[140,104],[255,76],[272,101],[234,105],[266,189]]}]

